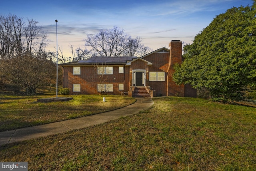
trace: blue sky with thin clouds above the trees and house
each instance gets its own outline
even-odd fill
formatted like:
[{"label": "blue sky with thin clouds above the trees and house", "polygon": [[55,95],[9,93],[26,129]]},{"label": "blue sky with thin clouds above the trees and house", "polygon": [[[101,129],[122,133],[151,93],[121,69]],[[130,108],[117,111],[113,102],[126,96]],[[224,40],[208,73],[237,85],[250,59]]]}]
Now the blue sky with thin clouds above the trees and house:
[{"label": "blue sky with thin clouds above the trees and house", "polygon": [[3,0],[0,13],[34,19],[48,32],[47,49],[58,46],[65,56],[84,45],[86,34],[118,26],[152,50],[171,40],[192,43],[213,18],[232,7],[252,5],[252,0]]}]

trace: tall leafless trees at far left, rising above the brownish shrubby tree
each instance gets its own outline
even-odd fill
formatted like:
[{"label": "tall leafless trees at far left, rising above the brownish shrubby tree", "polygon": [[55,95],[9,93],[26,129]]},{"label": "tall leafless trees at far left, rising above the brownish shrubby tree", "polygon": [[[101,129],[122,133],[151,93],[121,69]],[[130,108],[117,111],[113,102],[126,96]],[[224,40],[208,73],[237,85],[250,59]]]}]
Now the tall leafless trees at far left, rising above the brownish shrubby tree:
[{"label": "tall leafless trees at far left, rising above the brownish shrubby tree", "polygon": [[13,14],[0,15],[0,59],[41,52],[46,46],[46,36],[35,20],[24,22]]}]

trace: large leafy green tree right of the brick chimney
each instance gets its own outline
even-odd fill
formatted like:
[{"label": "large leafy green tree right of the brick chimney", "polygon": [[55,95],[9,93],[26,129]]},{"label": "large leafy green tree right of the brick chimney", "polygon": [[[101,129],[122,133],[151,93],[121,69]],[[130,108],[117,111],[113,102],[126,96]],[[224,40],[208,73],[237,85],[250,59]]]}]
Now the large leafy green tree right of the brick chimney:
[{"label": "large leafy green tree right of the brick chimney", "polygon": [[231,8],[184,47],[184,62],[174,66],[173,80],[207,88],[211,97],[241,100],[256,82],[256,2]]}]

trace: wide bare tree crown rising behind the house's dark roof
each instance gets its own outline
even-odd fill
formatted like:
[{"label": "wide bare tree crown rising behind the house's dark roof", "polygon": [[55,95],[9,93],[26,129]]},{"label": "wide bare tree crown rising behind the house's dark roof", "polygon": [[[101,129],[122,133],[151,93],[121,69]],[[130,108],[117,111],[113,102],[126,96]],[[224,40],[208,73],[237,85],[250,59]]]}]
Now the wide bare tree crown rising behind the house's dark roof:
[{"label": "wide bare tree crown rising behind the house's dark roof", "polygon": [[134,56],[145,54],[150,48],[141,44],[142,39],[132,39],[117,26],[109,30],[100,30],[98,34],[87,35],[85,46],[99,56]]}]

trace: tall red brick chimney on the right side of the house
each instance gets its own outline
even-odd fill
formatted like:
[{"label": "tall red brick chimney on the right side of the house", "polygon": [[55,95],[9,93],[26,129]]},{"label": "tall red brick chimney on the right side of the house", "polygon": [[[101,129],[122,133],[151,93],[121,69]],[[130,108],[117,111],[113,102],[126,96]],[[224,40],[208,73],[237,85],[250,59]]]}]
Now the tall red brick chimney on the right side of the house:
[{"label": "tall red brick chimney on the right side of the house", "polygon": [[172,40],[169,43],[170,59],[167,78],[167,95],[178,95],[184,97],[184,85],[176,85],[172,81],[172,75],[174,73],[174,64],[182,63],[182,42],[180,40]]}]

